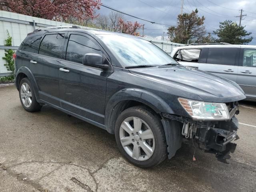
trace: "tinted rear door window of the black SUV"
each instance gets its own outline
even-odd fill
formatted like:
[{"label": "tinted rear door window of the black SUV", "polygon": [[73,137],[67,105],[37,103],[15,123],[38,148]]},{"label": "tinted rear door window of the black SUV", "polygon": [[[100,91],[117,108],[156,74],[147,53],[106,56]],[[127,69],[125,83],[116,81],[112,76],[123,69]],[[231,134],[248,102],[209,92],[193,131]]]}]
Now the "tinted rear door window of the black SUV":
[{"label": "tinted rear door window of the black SUV", "polygon": [[64,42],[64,34],[46,35],[40,44],[38,54],[61,58]]}]

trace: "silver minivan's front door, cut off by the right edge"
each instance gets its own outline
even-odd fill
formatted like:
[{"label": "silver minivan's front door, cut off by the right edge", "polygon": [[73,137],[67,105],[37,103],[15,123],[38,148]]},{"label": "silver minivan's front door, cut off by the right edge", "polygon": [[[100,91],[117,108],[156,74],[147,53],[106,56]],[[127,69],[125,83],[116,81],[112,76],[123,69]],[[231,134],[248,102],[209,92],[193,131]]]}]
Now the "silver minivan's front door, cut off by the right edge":
[{"label": "silver minivan's front door, cut off by the right edge", "polygon": [[244,90],[248,99],[256,100],[256,49],[242,48],[236,83]]}]

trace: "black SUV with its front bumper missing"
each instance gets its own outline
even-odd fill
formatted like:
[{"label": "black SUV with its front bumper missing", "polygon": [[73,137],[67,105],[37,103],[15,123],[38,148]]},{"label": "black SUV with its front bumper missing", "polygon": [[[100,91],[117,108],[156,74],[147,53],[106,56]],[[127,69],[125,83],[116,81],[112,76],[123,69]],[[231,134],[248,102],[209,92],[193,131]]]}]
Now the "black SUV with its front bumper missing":
[{"label": "black SUV with its front bumper missing", "polygon": [[182,138],[219,155],[234,150],[241,88],[178,64],[142,38],[42,28],[28,34],[14,58],[25,110],[47,104],[115,134],[120,152],[136,166],[172,158]]}]

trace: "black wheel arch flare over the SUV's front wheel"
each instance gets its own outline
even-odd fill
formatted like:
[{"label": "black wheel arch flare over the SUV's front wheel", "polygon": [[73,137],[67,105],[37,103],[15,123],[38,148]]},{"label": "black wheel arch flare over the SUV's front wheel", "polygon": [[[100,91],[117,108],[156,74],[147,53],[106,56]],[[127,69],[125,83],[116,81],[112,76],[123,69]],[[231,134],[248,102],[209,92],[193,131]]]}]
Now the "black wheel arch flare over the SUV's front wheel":
[{"label": "black wheel arch flare over the SUV's front wheel", "polygon": [[[173,110],[170,108],[170,106],[159,96],[139,88],[123,89],[112,95],[106,105],[105,125],[108,132],[114,133],[113,121],[119,115],[116,114],[116,112],[120,111],[122,108],[122,105],[120,106],[120,103],[126,103],[126,101],[141,102],[146,106],[152,108],[156,113],[164,112],[168,114],[173,114]],[[116,114],[114,115],[114,118],[113,114]]]}]

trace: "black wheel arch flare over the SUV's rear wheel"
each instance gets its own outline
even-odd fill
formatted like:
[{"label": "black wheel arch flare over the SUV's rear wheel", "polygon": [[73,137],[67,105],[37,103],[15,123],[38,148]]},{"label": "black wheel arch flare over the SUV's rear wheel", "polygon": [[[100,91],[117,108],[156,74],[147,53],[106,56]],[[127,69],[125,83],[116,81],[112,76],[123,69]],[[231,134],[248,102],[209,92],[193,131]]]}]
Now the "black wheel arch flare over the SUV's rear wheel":
[{"label": "black wheel arch flare over the SUV's rear wheel", "polygon": [[36,79],[35,79],[33,73],[31,72],[31,70],[26,66],[21,66],[17,70],[16,82],[15,82],[15,85],[16,85],[17,89],[19,89],[19,82],[20,82],[20,79],[18,77],[21,74],[25,74],[28,77],[28,80],[30,81],[30,83],[32,85],[32,88],[34,90],[34,94],[35,94],[36,98],[39,98],[39,96],[38,96],[38,86],[37,86],[37,83],[36,83]]}]

